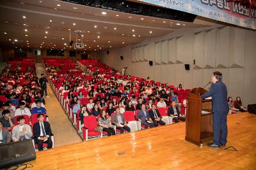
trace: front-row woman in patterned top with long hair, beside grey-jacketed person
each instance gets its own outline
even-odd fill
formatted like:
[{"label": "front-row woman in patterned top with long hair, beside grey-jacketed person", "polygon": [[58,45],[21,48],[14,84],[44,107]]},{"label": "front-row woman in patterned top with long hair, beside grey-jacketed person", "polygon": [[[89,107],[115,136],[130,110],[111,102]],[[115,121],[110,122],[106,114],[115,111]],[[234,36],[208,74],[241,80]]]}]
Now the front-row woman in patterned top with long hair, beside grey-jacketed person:
[{"label": "front-row woman in patterned top with long hair, beside grey-jacketed person", "polygon": [[108,136],[116,134],[111,124],[111,118],[106,115],[105,110],[100,111],[99,125],[102,127],[102,131],[108,132]]}]

